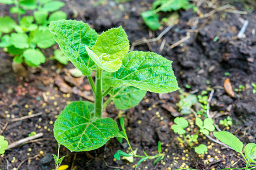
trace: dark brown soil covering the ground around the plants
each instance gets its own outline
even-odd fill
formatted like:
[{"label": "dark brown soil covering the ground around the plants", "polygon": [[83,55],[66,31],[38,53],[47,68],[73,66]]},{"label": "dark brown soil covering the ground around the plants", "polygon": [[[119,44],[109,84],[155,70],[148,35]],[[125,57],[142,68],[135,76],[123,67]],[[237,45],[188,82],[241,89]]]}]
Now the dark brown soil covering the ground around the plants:
[{"label": "dark brown soil covering the ground around the plants", "polygon": [[[112,27],[122,27],[127,32],[131,43],[135,40],[151,39],[157,37],[166,27],[160,31],[148,31],[140,16],[142,11],[148,10],[152,4],[150,1],[129,1],[125,3],[115,3],[108,1],[97,7],[93,7],[92,1],[77,0],[65,1],[63,8],[67,12],[69,19],[83,20],[89,23],[98,33]],[[247,14],[236,14],[246,11],[246,8],[255,8],[253,2],[234,3],[229,1],[217,1],[216,6],[221,7],[230,4],[233,11],[217,11],[207,17],[199,18],[199,15],[191,10],[179,11],[179,23],[174,25],[159,41],[151,42],[150,45],[143,44],[135,46],[134,50],[151,50],[173,61],[175,75],[179,86],[187,92],[200,94],[201,91],[212,88],[214,95],[210,102],[210,112],[222,113],[221,117],[215,118],[218,124],[220,119],[224,119],[228,114],[233,119],[230,132],[246,143],[255,143],[255,113],[256,102],[251,83],[256,83],[256,13],[253,10]],[[0,5],[0,15],[9,15],[10,6]],[[230,8],[229,8],[230,9]],[[235,10],[236,9],[236,10]],[[207,14],[213,10],[207,1],[199,7],[202,14]],[[234,13],[235,12],[235,13]],[[166,15],[166,14],[161,14]],[[243,20],[249,20],[249,25],[245,31],[245,37],[238,39],[237,33],[240,31]],[[190,38],[175,48],[170,49],[170,45],[190,34]],[[151,35],[151,36],[150,36]],[[216,42],[214,37],[218,36]],[[163,41],[165,46],[160,50]],[[47,57],[53,54],[53,49],[46,50]],[[0,169],[6,169],[6,159],[9,162],[9,169],[54,169],[52,154],[57,154],[57,142],[53,137],[53,124],[56,116],[67,105],[69,101],[85,100],[77,93],[64,94],[56,86],[56,78],[64,80],[68,76],[68,69],[73,68],[69,63],[67,66],[60,65],[56,61],[47,61],[38,69],[28,69],[28,76],[22,78],[15,75],[11,69],[12,57],[0,50],[0,133],[9,143],[28,137],[32,131],[43,133],[43,137],[37,141],[32,141],[12,150],[7,150],[3,158],[0,157]],[[225,76],[225,73],[229,73]],[[229,78],[233,89],[239,85],[245,86],[245,90],[235,92],[234,97],[226,94],[223,83]],[[185,88],[185,84],[191,86]],[[78,86],[86,94],[92,95],[88,90],[88,82]],[[77,91],[76,86],[69,86],[73,91]],[[139,165],[138,169],[171,169],[179,168],[185,163],[189,168],[195,169],[223,169],[230,167],[245,167],[241,156],[228,148],[199,137],[199,142],[205,145],[213,143],[212,149],[208,150],[208,155],[212,158],[218,156],[218,160],[212,159],[207,163],[207,155],[201,159],[194,150],[184,146],[180,147],[175,134],[170,125],[173,124],[174,116],[167,111],[165,106],[170,105],[177,108],[175,103],[179,101],[179,92],[159,95],[148,92],[141,103],[132,109],[123,111],[125,118],[127,135],[131,146],[138,148],[138,154],[143,155],[144,149],[148,154],[156,154],[158,141],[162,142],[162,149],[166,152],[163,162],[153,165],[154,160],[147,160]],[[226,112],[227,108],[231,109]],[[21,121],[14,121],[14,118],[42,112],[42,115],[27,118]],[[106,112],[109,117],[117,119],[121,112],[118,112],[110,105]],[[160,116],[156,116],[156,112]],[[10,115],[10,118],[8,118]],[[187,116],[192,120],[193,116]],[[117,119],[118,121],[118,119]],[[6,126],[5,129],[3,127]],[[220,126],[223,130],[224,127]],[[213,137],[212,134],[210,134]],[[213,137],[214,138],[214,137]],[[29,148],[31,148],[31,151]],[[221,153],[214,151],[218,149]],[[63,164],[69,165],[69,169],[134,169],[133,165],[139,159],[135,158],[134,163],[114,161],[113,155],[117,150],[126,151],[127,143],[120,144],[117,139],[111,139],[105,146],[90,152],[70,152],[61,146],[60,155],[66,158]],[[184,151],[185,150],[185,151]],[[43,151],[43,154],[40,154]],[[188,157],[185,156],[188,154]],[[185,158],[183,160],[182,158]],[[13,161],[12,161],[13,160]],[[209,159],[208,159],[209,160]],[[234,165],[230,162],[234,160]]]}]

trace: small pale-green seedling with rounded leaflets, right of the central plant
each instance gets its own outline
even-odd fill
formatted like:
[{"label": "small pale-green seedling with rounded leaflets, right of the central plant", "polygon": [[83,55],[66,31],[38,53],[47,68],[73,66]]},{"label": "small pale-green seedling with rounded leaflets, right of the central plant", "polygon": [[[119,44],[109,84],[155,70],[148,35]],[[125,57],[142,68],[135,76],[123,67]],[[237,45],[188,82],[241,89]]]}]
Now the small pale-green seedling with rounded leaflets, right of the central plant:
[{"label": "small pale-green seedling with rounded leaflets, right of the central plant", "polygon": [[195,152],[197,154],[204,154],[207,152],[207,146],[201,144],[199,146],[194,147],[194,142],[197,142],[197,138],[199,137],[199,132],[204,135],[209,135],[209,131],[214,131],[215,127],[213,125],[213,120],[211,118],[205,118],[204,122],[201,118],[196,117],[196,125],[200,128],[196,134],[190,135],[186,133],[185,128],[188,127],[188,121],[185,120],[184,117],[176,117],[174,119],[175,124],[171,126],[171,129],[174,130],[175,133],[183,135],[184,141],[181,138],[178,138],[180,142],[186,142],[189,147],[195,148]]}]

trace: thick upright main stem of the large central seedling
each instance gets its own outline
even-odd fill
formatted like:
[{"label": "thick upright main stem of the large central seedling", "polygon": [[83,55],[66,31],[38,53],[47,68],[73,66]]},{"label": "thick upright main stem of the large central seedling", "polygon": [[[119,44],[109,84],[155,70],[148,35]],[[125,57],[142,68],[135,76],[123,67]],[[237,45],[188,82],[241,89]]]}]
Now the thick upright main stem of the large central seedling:
[{"label": "thick upright main stem of the large central seedling", "polygon": [[102,97],[102,70],[97,68],[96,71],[96,89],[94,101],[94,116],[102,117],[103,111],[103,97]]}]

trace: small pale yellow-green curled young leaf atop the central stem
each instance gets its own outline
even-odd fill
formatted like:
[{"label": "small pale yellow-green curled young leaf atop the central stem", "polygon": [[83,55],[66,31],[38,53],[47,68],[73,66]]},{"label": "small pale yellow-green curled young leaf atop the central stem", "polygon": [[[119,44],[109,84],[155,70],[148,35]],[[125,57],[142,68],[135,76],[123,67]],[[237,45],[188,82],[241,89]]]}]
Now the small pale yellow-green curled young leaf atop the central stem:
[{"label": "small pale yellow-green curled young leaf atop the central stem", "polygon": [[109,59],[110,58],[109,54],[106,55],[106,53],[103,53],[101,54],[101,56],[97,56],[87,46],[85,46],[85,49],[89,57],[96,63],[98,67],[100,67],[101,70],[105,70],[109,73],[113,73],[122,66],[122,61],[119,58],[111,61]]}]

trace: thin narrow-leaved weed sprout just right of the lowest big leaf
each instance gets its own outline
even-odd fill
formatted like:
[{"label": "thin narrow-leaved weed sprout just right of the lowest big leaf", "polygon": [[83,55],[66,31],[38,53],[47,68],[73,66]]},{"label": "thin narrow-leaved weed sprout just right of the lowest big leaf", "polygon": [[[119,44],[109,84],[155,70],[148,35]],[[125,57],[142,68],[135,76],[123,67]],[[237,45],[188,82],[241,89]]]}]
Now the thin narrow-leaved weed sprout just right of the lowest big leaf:
[{"label": "thin narrow-leaved weed sprout just right of the lowest big leaf", "polygon": [[121,150],[118,150],[117,153],[114,155],[114,158],[115,158],[115,159],[120,160],[120,159],[121,159],[120,156],[123,156],[123,157],[125,157],[125,158],[126,158],[126,157],[133,157],[133,158],[138,157],[138,158],[141,158],[141,159],[139,160],[139,162],[137,163],[136,167],[135,167],[135,169],[137,169],[138,165],[139,165],[140,163],[142,163],[144,160],[147,160],[147,159],[156,159],[156,160],[154,161],[154,165],[155,165],[156,163],[158,163],[160,160],[162,160],[162,159],[164,158],[164,156],[165,156],[166,154],[161,153],[161,151],[162,151],[162,146],[161,146],[161,142],[160,142],[160,141],[158,142],[158,154],[156,154],[156,155],[154,155],[154,156],[148,156],[148,155],[146,154],[146,152],[143,150],[143,153],[144,153],[145,156],[143,156],[143,155],[137,155],[137,153],[133,150],[133,148],[132,148],[131,145],[130,145],[129,139],[128,139],[127,134],[126,134],[126,131],[125,131],[125,122],[123,121],[123,118],[122,118],[122,117],[120,118],[120,125],[121,125],[121,128],[122,128],[122,131],[119,131],[118,134],[117,134],[118,141],[119,141],[119,142],[122,142],[122,139],[125,139],[125,140],[127,141],[128,145],[129,145],[131,151],[128,152],[128,153],[126,153],[126,152],[123,152],[123,151],[121,151]]}]

